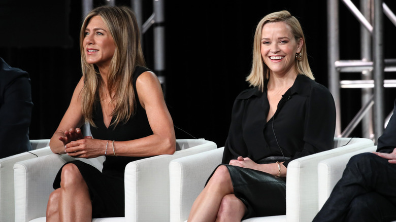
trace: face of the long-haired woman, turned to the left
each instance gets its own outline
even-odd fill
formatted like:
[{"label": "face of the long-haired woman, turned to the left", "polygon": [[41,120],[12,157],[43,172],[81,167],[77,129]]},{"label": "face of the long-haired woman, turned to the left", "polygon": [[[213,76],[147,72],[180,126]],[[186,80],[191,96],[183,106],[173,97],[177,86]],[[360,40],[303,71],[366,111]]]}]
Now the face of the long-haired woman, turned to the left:
[{"label": "face of the long-haired woman, turned to the left", "polygon": [[85,28],[84,52],[86,61],[100,69],[108,67],[116,46],[113,37],[100,16],[93,16]]}]

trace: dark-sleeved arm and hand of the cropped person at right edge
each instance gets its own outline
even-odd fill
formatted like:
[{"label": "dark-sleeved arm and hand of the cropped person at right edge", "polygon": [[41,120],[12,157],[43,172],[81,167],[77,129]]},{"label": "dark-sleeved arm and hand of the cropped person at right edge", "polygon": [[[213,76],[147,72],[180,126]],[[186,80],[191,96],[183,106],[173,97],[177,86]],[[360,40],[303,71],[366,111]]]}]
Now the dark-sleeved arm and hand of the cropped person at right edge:
[{"label": "dark-sleeved arm and hand of the cropped person at right edge", "polygon": [[378,138],[377,152],[374,154],[385,158],[389,163],[396,163],[396,100],[394,100],[393,115],[383,134]]}]

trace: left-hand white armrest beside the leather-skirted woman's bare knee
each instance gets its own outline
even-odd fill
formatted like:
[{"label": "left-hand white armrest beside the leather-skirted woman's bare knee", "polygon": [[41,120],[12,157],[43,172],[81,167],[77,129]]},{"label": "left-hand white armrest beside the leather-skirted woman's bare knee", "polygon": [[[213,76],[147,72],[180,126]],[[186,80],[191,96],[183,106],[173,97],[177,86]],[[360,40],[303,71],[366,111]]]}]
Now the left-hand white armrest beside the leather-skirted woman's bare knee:
[{"label": "left-hand white armrest beside the leather-skirted woman's bare knee", "polygon": [[221,163],[223,150],[224,147],[221,147],[170,162],[170,219],[172,222],[185,221],[188,218],[195,198],[204,189],[205,182],[215,167]]}]

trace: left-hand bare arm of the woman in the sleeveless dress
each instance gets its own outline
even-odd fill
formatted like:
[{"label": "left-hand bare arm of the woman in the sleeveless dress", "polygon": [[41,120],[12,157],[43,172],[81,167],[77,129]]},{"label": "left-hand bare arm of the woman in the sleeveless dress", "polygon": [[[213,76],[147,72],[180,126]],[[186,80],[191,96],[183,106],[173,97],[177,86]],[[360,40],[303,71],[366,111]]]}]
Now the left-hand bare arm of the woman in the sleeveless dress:
[{"label": "left-hand bare arm of the woman in the sleeveless dress", "polygon": [[79,127],[83,125],[81,109],[81,90],[84,81],[81,78],[74,90],[72,100],[58,128],[50,140],[51,151],[55,154],[65,154],[64,145],[83,138]]}]

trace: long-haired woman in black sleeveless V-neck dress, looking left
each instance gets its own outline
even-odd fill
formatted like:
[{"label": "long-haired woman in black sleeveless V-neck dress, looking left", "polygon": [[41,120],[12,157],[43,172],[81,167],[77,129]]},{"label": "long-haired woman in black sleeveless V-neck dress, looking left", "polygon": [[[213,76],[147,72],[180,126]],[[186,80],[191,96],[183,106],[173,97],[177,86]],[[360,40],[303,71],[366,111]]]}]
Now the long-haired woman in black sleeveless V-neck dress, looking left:
[{"label": "long-haired woman in black sleeveless V-neck dress, looking left", "polygon": [[[81,27],[80,50],[83,77],[50,147],[56,154],[106,160],[102,172],[78,160],[62,166],[47,221],[124,216],[126,164],[176,150],[158,78],[144,67],[134,13],[127,7],[93,9]],[[85,122],[92,136],[83,137]]]}]

